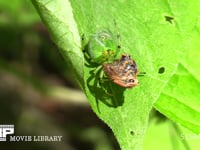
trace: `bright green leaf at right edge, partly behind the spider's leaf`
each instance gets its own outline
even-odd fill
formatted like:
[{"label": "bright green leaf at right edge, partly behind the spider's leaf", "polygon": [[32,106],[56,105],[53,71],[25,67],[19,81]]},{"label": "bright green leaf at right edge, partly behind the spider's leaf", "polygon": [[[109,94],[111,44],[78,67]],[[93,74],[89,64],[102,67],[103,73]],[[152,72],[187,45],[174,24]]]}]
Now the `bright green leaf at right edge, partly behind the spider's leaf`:
[{"label": "bright green leaf at right edge, partly behind the spider's leaf", "polygon": [[155,107],[173,121],[200,133],[200,21],[196,16],[200,11],[192,12],[197,20],[190,25],[190,36],[185,36],[188,52],[181,57],[176,74],[164,88]]}]

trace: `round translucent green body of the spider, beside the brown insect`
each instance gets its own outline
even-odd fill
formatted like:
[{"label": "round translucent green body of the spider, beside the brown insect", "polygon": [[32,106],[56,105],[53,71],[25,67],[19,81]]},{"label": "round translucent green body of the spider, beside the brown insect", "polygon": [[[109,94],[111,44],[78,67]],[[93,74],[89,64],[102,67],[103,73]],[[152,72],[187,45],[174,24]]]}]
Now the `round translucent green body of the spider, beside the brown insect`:
[{"label": "round translucent green body of the spider, beside the brown insect", "polygon": [[[84,40],[84,37],[83,37]],[[84,47],[84,53],[89,63],[101,65],[104,62],[112,63],[119,52],[116,40],[109,30],[101,30],[90,36]]]}]

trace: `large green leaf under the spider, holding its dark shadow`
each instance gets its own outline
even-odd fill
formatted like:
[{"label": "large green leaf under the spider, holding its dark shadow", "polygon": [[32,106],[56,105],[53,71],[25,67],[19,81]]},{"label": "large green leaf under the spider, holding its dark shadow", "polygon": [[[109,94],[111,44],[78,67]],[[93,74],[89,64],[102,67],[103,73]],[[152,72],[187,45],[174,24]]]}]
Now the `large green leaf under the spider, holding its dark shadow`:
[{"label": "large green leaf under the spider, holding its dark shadow", "polygon": [[[105,83],[111,95],[95,86],[92,68],[85,67],[85,92],[94,112],[113,130],[124,150],[141,149],[149,111],[170,77],[176,72],[177,55],[183,49],[179,28],[166,21],[172,16],[164,1],[71,1],[81,34],[109,28],[121,36],[121,54],[131,54],[140,71],[140,85],[124,89]],[[116,20],[115,27],[113,20]],[[117,29],[116,29],[117,28]],[[165,73],[159,74],[160,67]]]}]

